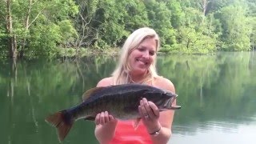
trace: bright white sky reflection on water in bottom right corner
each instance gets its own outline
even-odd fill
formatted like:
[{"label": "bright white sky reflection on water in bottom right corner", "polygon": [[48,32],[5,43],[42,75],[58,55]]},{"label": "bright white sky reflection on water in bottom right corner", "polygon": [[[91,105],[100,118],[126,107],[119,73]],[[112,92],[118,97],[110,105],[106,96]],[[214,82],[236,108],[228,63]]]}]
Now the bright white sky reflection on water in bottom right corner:
[{"label": "bright white sky reflection on water in bottom right corner", "polygon": [[[198,128],[193,134],[175,133],[169,143],[246,143],[254,144],[256,122],[209,125],[208,129]],[[229,127],[230,126],[230,127]],[[234,126],[234,127],[233,127]],[[190,129],[190,127],[187,127]]]}]

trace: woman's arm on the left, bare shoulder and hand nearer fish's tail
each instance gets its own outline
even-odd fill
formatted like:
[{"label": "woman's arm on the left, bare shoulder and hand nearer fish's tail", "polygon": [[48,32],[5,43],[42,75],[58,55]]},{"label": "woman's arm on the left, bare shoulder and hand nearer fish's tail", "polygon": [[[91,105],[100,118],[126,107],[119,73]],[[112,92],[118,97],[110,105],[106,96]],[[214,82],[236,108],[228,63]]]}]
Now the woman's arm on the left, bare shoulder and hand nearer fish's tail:
[{"label": "woman's arm on the left, bare shoulder and hand nearer fish's tail", "polygon": [[[110,86],[112,78],[104,78],[98,82],[97,86]],[[114,137],[115,127],[118,121],[107,111],[99,113],[95,118],[95,137],[101,144],[106,144]]]}]

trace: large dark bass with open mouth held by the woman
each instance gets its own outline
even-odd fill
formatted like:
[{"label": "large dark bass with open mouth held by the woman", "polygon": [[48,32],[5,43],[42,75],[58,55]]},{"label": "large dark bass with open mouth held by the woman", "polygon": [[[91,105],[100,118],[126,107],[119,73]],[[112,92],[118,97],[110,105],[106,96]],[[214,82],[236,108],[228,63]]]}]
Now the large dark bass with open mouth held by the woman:
[{"label": "large dark bass with open mouth held by the woman", "polygon": [[98,113],[108,111],[118,120],[134,120],[136,128],[141,119],[138,106],[142,98],[154,102],[161,112],[180,109],[181,106],[172,105],[177,97],[171,91],[144,84],[94,87],[82,95],[82,102],[78,106],[50,114],[45,120],[57,128],[58,139],[62,142],[79,119],[94,121]]}]

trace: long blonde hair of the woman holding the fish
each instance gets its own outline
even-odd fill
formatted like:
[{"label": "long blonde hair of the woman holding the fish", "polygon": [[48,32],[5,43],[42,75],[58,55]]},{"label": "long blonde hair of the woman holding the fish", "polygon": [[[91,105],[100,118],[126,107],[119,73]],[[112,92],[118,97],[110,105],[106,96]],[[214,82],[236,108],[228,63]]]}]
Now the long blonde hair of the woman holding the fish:
[{"label": "long blonde hair of the woman holding the fish", "polygon": [[[130,36],[126,39],[126,42],[122,46],[118,66],[112,74],[114,78],[113,85],[126,84],[131,81],[129,56],[133,50],[138,48],[138,45],[145,38],[154,38],[157,43],[156,50],[158,51],[160,41],[158,34],[153,29],[150,29],[149,27],[143,27],[135,30],[132,34],[130,34]],[[150,65],[146,78],[143,80],[143,82],[153,81],[154,78],[158,77],[155,65],[156,58],[154,58],[154,61]]]}]

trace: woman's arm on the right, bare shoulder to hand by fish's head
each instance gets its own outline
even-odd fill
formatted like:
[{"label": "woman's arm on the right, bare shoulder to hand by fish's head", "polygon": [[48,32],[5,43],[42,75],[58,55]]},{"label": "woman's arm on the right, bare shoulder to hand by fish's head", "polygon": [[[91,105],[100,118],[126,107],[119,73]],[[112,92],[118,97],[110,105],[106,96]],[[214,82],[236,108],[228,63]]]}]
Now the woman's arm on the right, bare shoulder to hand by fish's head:
[{"label": "woman's arm on the right, bare shoulder to hand by fish's head", "polygon": [[[166,78],[159,78],[154,83],[154,86],[163,90],[170,90],[175,93],[173,83]],[[173,104],[176,105],[176,101]],[[158,107],[153,102],[148,102],[146,98],[142,99],[138,109],[142,116],[142,122],[146,126],[152,141],[158,144],[166,144],[171,136],[174,110],[166,110],[160,113]],[[154,134],[154,132],[157,133]]]}]

